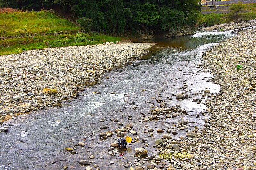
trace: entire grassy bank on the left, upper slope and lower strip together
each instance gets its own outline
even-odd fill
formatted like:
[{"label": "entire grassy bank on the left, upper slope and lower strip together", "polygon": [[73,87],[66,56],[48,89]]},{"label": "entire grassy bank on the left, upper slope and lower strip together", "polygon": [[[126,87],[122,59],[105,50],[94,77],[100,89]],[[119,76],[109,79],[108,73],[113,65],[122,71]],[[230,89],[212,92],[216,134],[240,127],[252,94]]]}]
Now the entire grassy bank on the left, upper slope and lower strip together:
[{"label": "entire grassy bank on the left, upper slope and lower strip together", "polygon": [[49,47],[120,41],[119,37],[82,33],[72,22],[49,12],[0,13],[0,55]]}]

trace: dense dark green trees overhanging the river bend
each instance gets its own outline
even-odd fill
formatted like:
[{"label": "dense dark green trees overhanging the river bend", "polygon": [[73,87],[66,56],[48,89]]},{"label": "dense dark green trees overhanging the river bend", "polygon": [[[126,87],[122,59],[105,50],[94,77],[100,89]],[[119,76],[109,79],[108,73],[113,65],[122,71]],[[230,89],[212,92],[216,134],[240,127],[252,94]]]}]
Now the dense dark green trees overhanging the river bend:
[{"label": "dense dark green trees overhanging the river bend", "polygon": [[104,33],[193,25],[201,6],[200,0],[0,0],[0,4],[28,10],[58,4],[73,11],[86,31]]}]

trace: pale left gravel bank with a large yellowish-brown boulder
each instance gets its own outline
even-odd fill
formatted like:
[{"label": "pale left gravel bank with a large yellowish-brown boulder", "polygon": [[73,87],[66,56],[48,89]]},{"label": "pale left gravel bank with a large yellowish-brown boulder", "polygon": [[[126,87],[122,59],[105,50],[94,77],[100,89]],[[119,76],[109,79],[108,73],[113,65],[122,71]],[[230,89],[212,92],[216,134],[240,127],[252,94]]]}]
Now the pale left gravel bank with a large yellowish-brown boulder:
[{"label": "pale left gravel bank with a large yellowish-brown boulder", "polygon": [[84,90],[83,85],[147,54],[151,46],[152,43],[107,42],[0,56],[0,123],[8,116],[57,106],[64,99],[76,98]]}]

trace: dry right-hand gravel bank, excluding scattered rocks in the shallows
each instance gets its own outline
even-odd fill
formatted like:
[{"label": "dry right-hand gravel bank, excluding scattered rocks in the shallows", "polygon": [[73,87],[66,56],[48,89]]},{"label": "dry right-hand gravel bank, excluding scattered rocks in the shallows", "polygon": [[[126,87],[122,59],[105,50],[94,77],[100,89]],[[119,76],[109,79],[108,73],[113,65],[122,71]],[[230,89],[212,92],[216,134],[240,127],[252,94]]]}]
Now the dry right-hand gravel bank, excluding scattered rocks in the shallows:
[{"label": "dry right-hand gravel bank, excluding scattered rocks in the shallows", "polygon": [[216,75],[212,81],[221,92],[204,94],[210,97],[204,128],[194,127],[179,140],[164,135],[156,140],[157,155],[165,157],[168,170],[256,169],[255,41],[256,29],[248,29],[203,55],[204,69]]}]

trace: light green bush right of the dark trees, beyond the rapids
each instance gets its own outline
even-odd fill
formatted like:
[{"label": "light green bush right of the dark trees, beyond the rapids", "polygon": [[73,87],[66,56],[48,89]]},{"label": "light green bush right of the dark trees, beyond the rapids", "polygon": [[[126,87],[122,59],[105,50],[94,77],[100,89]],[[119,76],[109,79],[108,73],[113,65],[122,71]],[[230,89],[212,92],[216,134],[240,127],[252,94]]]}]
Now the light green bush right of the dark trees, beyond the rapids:
[{"label": "light green bush right of the dark trees, beyond the rapids", "polygon": [[221,14],[205,14],[205,15],[198,15],[197,16],[197,25],[198,26],[212,26],[214,24],[221,23]]}]

